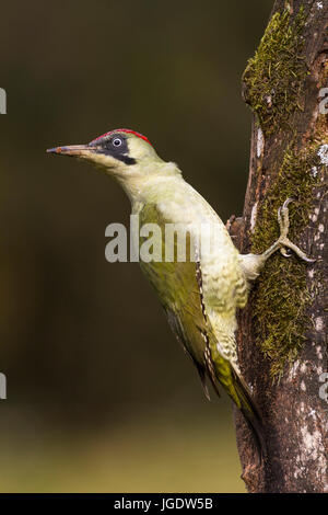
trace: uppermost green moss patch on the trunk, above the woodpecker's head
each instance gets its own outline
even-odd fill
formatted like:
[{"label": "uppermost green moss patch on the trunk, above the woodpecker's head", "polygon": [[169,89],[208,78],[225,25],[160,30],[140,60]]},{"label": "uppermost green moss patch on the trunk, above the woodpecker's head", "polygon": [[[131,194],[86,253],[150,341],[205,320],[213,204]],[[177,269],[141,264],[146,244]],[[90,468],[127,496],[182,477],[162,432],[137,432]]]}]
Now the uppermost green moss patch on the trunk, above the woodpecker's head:
[{"label": "uppermost green moss patch on the trunk, above the woodpecker's head", "polygon": [[291,115],[302,110],[300,99],[307,75],[302,37],[305,21],[303,8],[293,21],[289,10],[277,12],[245,70],[246,101],[266,136],[291,129]]}]

